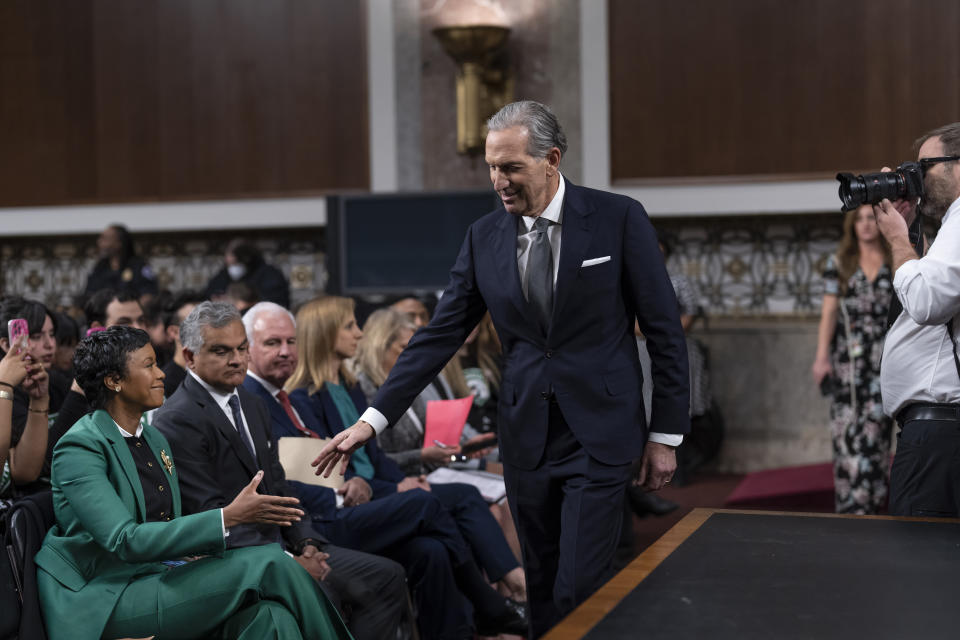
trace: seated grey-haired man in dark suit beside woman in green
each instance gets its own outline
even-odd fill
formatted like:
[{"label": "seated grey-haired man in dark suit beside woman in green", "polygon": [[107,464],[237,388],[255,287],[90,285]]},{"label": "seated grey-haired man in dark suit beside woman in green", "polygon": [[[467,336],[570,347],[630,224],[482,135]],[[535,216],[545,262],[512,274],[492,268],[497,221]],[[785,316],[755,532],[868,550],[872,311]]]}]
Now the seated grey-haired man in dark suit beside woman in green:
[{"label": "seated grey-haired man in dark suit beside woman in green", "polygon": [[[248,354],[240,314],[225,302],[203,302],[180,325],[180,341],[187,377],[156,412],[154,424],[179,461],[184,513],[227,505],[258,471],[267,493],[290,495],[272,444],[267,407],[241,386]],[[403,568],[397,563],[329,544],[307,519],[289,527],[238,526],[229,532],[229,548],[280,543],[294,553],[310,575],[323,581],[332,599],[350,611],[350,631],[359,640],[396,633],[407,602]]]}]

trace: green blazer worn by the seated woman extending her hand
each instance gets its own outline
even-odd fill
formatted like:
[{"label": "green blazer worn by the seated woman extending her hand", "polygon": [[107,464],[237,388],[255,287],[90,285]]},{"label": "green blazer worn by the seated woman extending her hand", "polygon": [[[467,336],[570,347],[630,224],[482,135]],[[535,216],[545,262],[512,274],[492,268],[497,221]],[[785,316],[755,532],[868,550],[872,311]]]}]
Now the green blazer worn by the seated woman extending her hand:
[{"label": "green blazer worn by the seated woman extending her hand", "polygon": [[103,410],[86,415],[53,450],[51,484],[57,524],[36,556],[37,586],[50,640],[99,638],[124,587],[164,571],[161,560],[222,556],[218,509],[180,515],[170,444],[144,424],[143,439],[167,475],[174,518],[145,522],[140,476],[116,423]]}]

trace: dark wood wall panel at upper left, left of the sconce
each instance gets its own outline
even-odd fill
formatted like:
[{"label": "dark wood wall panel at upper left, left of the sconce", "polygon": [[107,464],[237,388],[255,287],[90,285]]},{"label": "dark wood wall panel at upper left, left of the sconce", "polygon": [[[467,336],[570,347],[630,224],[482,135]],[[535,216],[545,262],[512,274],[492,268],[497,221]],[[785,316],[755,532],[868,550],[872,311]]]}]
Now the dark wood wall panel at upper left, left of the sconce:
[{"label": "dark wood wall panel at upper left, left of the sconce", "polygon": [[0,206],[367,188],[365,7],[0,3]]}]

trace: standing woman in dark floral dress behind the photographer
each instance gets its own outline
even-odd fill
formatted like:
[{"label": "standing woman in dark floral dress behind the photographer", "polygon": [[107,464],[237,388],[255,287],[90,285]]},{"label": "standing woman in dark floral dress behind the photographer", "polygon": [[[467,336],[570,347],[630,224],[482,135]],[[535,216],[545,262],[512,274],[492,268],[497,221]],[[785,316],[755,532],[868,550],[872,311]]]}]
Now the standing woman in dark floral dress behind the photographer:
[{"label": "standing woman in dark floral dress behind the photographer", "polygon": [[880,399],[880,356],[893,292],[890,249],[870,205],[848,211],[843,240],[823,272],[813,378],[830,404],[837,513],[887,504],[892,422]]}]

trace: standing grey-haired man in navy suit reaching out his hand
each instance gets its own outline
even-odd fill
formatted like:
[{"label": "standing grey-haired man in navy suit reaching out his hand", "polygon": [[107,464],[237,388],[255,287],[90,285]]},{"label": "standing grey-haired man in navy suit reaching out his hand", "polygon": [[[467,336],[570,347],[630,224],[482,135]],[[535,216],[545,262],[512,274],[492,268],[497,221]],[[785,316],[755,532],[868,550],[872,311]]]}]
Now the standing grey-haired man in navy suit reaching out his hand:
[{"label": "standing grey-haired man in navy suit reaching out his hand", "polygon": [[[504,477],[539,637],[610,577],[631,462],[642,460],[646,489],[669,482],[690,428],[687,354],[643,207],[560,175],[566,137],[545,106],[507,105],[488,126],[503,206],[467,231],[433,320],[315,464],[331,469],[393,424],[489,310],[504,351]],[[653,362],[649,427],[634,320]]]}]

